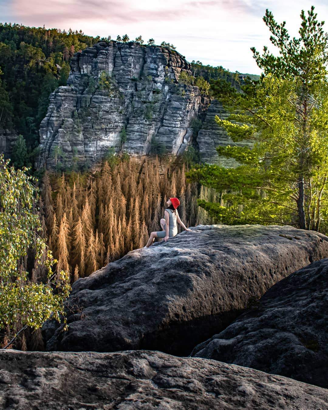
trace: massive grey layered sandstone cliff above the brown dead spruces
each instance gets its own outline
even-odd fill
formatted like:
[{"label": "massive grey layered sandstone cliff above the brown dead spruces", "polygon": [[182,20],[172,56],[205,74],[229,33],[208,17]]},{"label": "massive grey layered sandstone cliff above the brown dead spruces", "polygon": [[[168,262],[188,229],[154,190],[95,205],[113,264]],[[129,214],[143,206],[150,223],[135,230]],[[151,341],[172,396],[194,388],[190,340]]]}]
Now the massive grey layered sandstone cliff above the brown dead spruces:
[{"label": "massive grey layered sandstone cliff above the brown dead spruces", "polygon": [[75,53],[67,86],[50,95],[36,167],[96,164],[108,148],[121,150],[124,133],[132,155],[181,155],[209,103],[178,84],[181,71],[191,74],[190,63],[165,47],[101,41]]}]

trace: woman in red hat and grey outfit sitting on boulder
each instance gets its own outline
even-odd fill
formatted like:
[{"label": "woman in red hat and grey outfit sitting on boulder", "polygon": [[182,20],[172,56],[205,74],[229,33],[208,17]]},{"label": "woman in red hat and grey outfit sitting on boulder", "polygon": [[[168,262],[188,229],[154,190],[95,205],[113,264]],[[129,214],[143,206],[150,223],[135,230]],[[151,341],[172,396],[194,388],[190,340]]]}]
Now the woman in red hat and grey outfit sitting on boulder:
[{"label": "woman in red hat and grey outfit sitting on boulder", "polygon": [[164,211],[165,219],[161,219],[161,226],[163,230],[158,232],[152,232],[144,248],[149,248],[149,246],[153,244],[155,238],[164,238],[164,241],[167,241],[169,237],[177,235],[177,221],[180,223],[182,228],[191,231],[191,229],[185,227],[185,224],[181,221],[179,217],[177,208],[180,205],[180,201],[178,200],[178,198],[170,198],[166,201],[166,203],[169,206]]}]

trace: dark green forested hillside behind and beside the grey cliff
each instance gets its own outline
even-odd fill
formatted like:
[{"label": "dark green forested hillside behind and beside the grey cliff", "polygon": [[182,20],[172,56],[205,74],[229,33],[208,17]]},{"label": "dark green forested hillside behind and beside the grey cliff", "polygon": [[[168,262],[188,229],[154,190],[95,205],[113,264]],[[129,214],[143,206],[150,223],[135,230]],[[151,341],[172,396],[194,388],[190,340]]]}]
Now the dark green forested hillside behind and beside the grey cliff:
[{"label": "dark green forested hillside behind and beside the grey cliff", "polygon": [[[129,41],[128,36],[125,37],[122,41]],[[141,36],[136,41],[141,42],[140,39]],[[66,32],[44,26],[0,23],[0,128],[15,130],[24,138],[19,139],[14,151],[18,157],[16,165],[33,163],[31,152],[39,144],[39,125],[46,115],[49,95],[57,87],[66,85],[70,59],[75,52],[99,40],[100,36],[87,36],[82,30]],[[110,36],[102,40],[109,41]],[[153,42],[151,39],[148,44]],[[169,43],[162,44],[173,47]],[[239,73],[230,73],[222,66],[203,66],[199,61],[192,61],[191,71],[195,80],[203,77],[210,83],[220,78],[237,88],[240,82]]]}]

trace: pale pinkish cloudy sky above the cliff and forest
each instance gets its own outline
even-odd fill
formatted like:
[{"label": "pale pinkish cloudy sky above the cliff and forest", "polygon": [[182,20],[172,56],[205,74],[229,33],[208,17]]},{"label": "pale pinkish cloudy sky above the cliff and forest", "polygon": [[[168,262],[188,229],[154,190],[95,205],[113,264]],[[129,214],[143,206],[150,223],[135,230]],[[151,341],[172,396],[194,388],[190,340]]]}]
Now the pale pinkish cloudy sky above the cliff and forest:
[{"label": "pale pinkish cloudy sky above the cliff and forest", "polygon": [[187,61],[223,66],[230,71],[260,74],[251,47],[262,51],[270,42],[263,16],[269,9],[278,23],[286,21],[291,37],[298,36],[301,10],[314,5],[326,21],[326,0],[0,0],[0,22],[30,27],[82,30],[91,36],[141,35],[145,42],[169,42]]}]

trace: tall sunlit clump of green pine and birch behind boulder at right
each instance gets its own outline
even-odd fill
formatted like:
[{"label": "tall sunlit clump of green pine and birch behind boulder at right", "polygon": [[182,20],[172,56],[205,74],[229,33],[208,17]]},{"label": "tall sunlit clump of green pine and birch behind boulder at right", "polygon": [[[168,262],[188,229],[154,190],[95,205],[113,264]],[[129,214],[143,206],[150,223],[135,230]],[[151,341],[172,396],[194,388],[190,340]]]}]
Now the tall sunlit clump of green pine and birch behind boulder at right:
[{"label": "tall sunlit clump of green pine and birch behind boulder at right", "polygon": [[[252,48],[263,74],[246,80],[238,92],[217,80],[211,88],[230,116],[215,121],[234,143],[253,148],[216,147],[234,158],[236,168],[196,166],[189,180],[225,192],[221,203],[199,205],[228,224],[290,224],[326,231],[328,227],[328,81],[327,34],[314,7],[301,12],[300,37],[290,39],[285,22],[266,10],[264,22],[278,57]],[[232,145],[232,144],[231,144]]]}]

